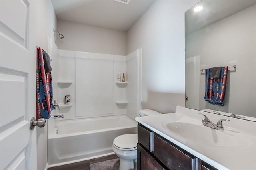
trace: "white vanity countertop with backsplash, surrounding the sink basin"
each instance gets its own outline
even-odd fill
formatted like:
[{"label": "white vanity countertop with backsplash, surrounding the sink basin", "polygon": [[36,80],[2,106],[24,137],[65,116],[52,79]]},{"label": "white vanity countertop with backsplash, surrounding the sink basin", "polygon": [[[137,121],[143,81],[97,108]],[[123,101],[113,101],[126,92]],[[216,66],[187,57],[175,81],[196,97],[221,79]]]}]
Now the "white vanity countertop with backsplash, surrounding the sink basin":
[{"label": "white vanity countertop with backsplash, surrounding the sink basin", "polygon": [[[225,146],[209,146],[204,143],[193,142],[192,140],[177,136],[164,127],[164,124],[168,121],[190,121],[196,124],[202,124],[201,121],[203,117],[202,115],[198,115],[198,112],[204,113],[214,123],[219,119],[230,119],[229,122],[223,123],[224,129],[227,129],[227,134],[229,131],[232,131],[232,133],[235,132],[238,134],[238,137],[242,136],[242,138],[239,139],[242,141],[242,144],[233,143],[232,146],[229,146],[227,141]],[[136,117],[135,120],[217,169],[256,169],[256,122],[216,115],[179,106],[176,107],[176,113]],[[237,128],[239,128],[239,130],[237,130]],[[225,130],[222,132],[225,132]]]}]

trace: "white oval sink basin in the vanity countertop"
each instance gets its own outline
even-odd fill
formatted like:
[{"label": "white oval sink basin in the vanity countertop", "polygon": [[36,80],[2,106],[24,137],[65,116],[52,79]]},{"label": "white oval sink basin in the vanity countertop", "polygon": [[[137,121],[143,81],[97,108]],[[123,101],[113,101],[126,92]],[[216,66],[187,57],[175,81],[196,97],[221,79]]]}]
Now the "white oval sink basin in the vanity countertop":
[{"label": "white oval sink basin in the vanity countertop", "polygon": [[[234,130],[216,130],[203,125],[185,122],[164,123],[163,127],[186,142],[207,146],[237,147],[246,146],[248,140]],[[225,127],[224,127],[225,128]]]}]

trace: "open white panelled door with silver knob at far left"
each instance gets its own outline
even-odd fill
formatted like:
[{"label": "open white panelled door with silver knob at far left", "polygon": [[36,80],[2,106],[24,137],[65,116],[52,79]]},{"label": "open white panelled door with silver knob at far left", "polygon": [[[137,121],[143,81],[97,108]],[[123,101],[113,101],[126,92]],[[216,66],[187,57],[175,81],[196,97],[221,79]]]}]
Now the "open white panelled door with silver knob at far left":
[{"label": "open white panelled door with silver knob at far left", "polygon": [[0,0],[0,170],[36,170],[36,6]]}]

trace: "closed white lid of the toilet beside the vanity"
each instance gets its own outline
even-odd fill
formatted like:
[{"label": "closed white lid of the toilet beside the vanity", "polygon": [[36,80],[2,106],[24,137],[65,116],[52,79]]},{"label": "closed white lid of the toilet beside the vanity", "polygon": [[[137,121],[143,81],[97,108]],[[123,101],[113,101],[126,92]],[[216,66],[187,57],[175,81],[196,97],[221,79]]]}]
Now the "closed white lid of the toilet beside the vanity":
[{"label": "closed white lid of the toilet beside the vanity", "polygon": [[137,134],[123,134],[114,139],[113,144],[118,148],[136,148],[138,143]]}]

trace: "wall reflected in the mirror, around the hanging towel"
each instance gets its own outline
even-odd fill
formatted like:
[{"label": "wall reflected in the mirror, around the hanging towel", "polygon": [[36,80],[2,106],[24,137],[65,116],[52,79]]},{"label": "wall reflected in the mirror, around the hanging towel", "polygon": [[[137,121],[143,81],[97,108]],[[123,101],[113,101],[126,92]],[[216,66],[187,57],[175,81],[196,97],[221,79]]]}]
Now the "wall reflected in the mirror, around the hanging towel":
[{"label": "wall reflected in the mirror, around the hanging towel", "polygon": [[[186,57],[200,55],[203,69],[234,65],[228,72],[226,101],[216,106],[204,101],[205,75],[200,75],[200,109],[255,117],[256,5],[186,36]],[[230,68],[234,70],[234,68]],[[238,104],[240,103],[240,104]]]}]

